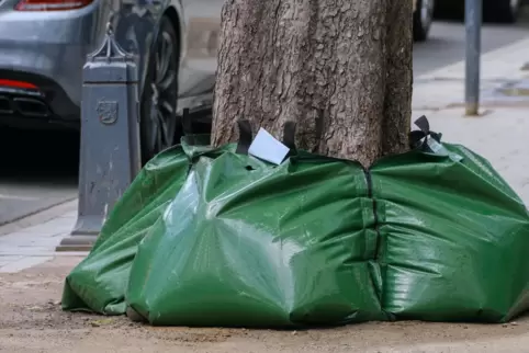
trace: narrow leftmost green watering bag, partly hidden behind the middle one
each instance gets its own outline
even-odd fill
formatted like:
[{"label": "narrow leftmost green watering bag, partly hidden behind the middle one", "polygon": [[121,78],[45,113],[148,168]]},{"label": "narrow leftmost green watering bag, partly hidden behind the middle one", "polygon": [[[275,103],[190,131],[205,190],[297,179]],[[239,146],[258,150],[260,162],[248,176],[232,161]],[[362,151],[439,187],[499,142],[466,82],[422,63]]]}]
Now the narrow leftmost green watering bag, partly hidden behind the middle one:
[{"label": "narrow leftmost green watering bag, partly hidden behind the middle one", "polygon": [[189,160],[181,146],[150,160],[104,223],[90,254],[67,276],[65,310],[125,312],[125,288],[137,244],[185,181]]}]

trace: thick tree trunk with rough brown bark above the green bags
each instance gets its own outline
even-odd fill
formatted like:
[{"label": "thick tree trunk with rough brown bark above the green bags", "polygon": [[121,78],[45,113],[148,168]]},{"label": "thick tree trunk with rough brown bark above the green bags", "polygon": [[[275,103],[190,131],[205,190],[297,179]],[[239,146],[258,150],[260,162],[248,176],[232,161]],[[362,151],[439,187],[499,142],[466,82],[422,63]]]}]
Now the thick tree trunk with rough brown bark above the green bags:
[{"label": "thick tree trunk with rough brown bark above the green bags", "polygon": [[410,0],[226,0],[213,144],[247,118],[296,144],[370,166],[407,148]]}]

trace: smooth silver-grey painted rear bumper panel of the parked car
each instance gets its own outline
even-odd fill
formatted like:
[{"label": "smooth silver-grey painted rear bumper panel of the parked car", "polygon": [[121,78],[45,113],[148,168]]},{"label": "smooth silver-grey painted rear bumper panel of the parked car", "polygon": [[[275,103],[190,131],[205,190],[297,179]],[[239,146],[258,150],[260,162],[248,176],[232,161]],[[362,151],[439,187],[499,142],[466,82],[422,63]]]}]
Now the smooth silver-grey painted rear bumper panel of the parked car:
[{"label": "smooth silver-grey painted rear bumper panel of the parked car", "polygon": [[[94,34],[85,29],[100,21],[99,1],[77,11],[20,12],[18,0],[0,3],[0,70],[43,76],[57,82],[75,104],[80,103],[87,52]],[[95,33],[97,35],[97,33]],[[101,37],[101,35],[99,35]]]}]

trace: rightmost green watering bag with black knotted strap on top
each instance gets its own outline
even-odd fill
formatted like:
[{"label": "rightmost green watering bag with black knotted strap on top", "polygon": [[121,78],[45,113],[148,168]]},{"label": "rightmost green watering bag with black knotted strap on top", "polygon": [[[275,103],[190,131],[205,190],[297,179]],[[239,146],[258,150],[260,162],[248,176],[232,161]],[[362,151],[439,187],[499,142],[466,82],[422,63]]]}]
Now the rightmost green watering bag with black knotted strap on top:
[{"label": "rightmost green watering bag with black knotted strap on top", "polygon": [[382,307],[394,319],[507,321],[529,306],[527,208],[485,159],[417,124],[418,149],[371,169]]}]

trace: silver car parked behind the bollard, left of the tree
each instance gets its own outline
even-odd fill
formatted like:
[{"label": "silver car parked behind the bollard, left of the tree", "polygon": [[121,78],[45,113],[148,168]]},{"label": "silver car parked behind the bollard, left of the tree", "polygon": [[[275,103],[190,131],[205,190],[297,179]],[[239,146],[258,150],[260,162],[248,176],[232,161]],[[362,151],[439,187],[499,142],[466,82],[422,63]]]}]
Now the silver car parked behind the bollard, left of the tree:
[{"label": "silver car parked behind the bollard, left of the tree", "polygon": [[[212,104],[223,0],[0,0],[0,126],[79,128],[82,66],[110,21],[140,64],[143,160]],[[178,110],[177,110],[178,107]]]}]

